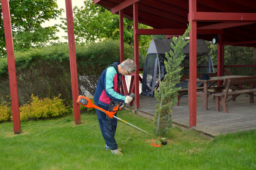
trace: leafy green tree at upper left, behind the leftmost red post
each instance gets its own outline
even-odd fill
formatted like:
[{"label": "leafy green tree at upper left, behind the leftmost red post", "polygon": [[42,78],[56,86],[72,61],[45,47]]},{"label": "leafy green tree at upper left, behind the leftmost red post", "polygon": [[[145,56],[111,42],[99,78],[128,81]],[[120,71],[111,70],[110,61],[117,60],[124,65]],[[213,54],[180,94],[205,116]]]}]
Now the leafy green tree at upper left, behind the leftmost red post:
[{"label": "leafy green tree at upper left, behind the leftmost red post", "polygon": [[[50,40],[57,40],[57,25],[43,28],[41,24],[56,19],[62,13],[56,0],[9,0],[13,44],[15,50],[40,47]],[[2,5],[0,5],[0,55],[6,54]]]}]

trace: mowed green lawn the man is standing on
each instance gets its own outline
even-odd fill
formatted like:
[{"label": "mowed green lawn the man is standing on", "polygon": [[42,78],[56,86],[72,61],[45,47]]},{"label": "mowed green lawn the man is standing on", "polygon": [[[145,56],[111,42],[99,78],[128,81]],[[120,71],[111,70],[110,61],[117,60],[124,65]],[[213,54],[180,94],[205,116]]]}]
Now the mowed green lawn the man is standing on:
[{"label": "mowed green lawn the man is standing on", "polygon": [[[117,117],[154,134],[151,120],[128,111]],[[168,143],[151,145],[151,136],[118,121],[116,141],[124,156],[105,150],[95,111],[56,119],[0,124],[0,169],[256,169],[256,131],[208,140],[200,134],[172,128]]]}]

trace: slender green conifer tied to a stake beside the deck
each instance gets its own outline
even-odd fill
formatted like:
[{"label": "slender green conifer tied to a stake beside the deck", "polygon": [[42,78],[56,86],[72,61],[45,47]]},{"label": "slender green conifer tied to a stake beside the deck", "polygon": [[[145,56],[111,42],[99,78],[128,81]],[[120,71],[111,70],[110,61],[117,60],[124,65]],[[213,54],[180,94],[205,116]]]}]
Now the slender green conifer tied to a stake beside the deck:
[{"label": "slender green conifer tied to a stake beside the deck", "polygon": [[185,58],[183,49],[189,42],[189,40],[186,40],[189,31],[190,26],[188,26],[183,36],[172,38],[170,55],[165,53],[167,61],[164,64],[167,74],[165,74],[162,84],[159,84],[160,90],[157,91],[155,89],[155,96],[159,103],[156,105],[154,122],[157,124],[158,116],[160,115],[159,134],[161,136],[165,136],[172,127],[172,106],[177,102],[176,95],[180,89],[180,87],[177,88],[175,85],[179,83],[181,78],[180,72],[183,67],[180,65]]}]

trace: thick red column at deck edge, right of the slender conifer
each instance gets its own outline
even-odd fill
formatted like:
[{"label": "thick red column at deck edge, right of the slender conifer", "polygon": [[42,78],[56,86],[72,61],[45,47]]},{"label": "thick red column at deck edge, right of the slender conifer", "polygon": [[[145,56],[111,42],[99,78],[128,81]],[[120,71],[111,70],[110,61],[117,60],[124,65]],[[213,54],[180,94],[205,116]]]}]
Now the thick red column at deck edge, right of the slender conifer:
[{"label": "thick red column at deck edge, right of the slender conifer", "polygon": [[196,21],[192,20],[193,12],[196,12],[196,0],[189,0],[190,30],[190,128],[196,126]]}]

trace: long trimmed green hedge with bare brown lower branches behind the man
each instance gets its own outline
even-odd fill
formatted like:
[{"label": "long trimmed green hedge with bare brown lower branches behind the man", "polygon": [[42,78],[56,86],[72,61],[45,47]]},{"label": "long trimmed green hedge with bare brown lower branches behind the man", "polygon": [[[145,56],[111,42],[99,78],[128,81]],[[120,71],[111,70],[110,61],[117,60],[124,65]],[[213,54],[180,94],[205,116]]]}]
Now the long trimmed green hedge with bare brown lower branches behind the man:
[{"label": "long trimmed green hedge with bare brown lower branches behind the man", "polygon": [[[133,48],[125,44],[125,59],[133,59]],[[79,93],[94,94],[102,71],[113,62],[120,61],[119,41],[107,39],[88,45],[76,44]],[[54,44],[26,52],[15,52],[19,104],[30,96],[49,97],[61,94],[66,104],[72,104],[68,44]],[[86,91],[86,93],[85,93]],[[0,58],[0,97],[10,94],[8,65]]]}]

